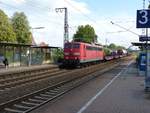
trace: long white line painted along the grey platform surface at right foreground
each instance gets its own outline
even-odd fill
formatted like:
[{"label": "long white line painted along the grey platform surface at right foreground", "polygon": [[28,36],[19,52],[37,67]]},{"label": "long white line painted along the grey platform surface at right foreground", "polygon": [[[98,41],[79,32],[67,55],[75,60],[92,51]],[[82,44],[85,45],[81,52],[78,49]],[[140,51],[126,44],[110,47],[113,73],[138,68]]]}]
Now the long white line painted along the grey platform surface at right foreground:
[{"label": "long white line painted along the grey platform surface at right foreground", "polygon": [[[132,62],[133,60],[130,61],[124,69],[131,65]],[[77,113],[83,113],[97,99],[97,97],[100,96],[121,75],[124,69],[122,69],[103,89],[101,89],[93,98],[91,98]]]}]

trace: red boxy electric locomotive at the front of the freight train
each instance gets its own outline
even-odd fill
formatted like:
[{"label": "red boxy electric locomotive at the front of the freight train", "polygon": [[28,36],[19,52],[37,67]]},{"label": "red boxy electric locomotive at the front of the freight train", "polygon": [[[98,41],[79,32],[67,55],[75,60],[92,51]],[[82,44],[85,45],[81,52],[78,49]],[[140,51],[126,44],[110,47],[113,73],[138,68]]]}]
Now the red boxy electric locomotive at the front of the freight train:
[{"label": "red boxy electric locomotive at the front of the freight train", "polygon": [[102,46],[84,42],[67,42],[64,45],[64,64],[82,65],[104,60]]}]

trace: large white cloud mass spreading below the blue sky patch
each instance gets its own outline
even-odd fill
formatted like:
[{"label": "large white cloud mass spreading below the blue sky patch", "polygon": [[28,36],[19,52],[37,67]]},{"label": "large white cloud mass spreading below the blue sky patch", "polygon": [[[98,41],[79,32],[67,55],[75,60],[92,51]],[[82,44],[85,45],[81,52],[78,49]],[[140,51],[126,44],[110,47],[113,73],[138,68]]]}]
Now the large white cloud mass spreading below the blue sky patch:
[{"label": "large white cloud mass spreading below the blue sky patch", "polygon": [[[72,38],[78,25],[90,24],[95,28],[96,34],[99,36],[99,41],[105,44],[106,38],[108,43],[116,43],[128,47],[130,42],[138,41],[138,37],[130,32],[117,32],[124,31],[124,29],[112,25],[110,21],[117,23],[125,28],[130,28],[134,32],[139,32],[135,29],[133,21],[135,17],[122,13],[110,17],[97,17],[97,12],[92,12],[89,4],[76,1],[76,0],[6,0],[7,4],[15,6],[3,6],[4,11],[12,15],[14,11],[24,11],[27,15],[31,27],[45,27],[45,29],[33,30],[35,41],[40,43],[42,41],[48,43],[50,46],[63,46],[63,25],[64,25],[64,11],[56,13],[55,8],[67,7],[68,8],[68,22],[69,22],[69,35]],[[7,9],[6,9],[7,8]],[[10,14],[12,12],[12,14]],[[100,15],[100,14],[99,14]],[[128,21],[128,22],[127,22]],[[111,33],[112,32],[112,33]],[[113,33],[114,32],[114,33]]]}]

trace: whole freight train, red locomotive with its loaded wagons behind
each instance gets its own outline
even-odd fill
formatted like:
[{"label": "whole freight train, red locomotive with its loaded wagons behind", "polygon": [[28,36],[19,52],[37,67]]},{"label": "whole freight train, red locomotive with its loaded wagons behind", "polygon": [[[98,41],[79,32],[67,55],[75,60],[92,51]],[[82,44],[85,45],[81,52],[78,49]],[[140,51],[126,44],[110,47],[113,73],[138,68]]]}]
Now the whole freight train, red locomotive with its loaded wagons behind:
[{"label": "whole freight train, red locomotive with its loaded wagons behind", "polygon": [[64,66],[82,66],[100,61],[109,61],[124,57],[126,50],[112,51],[105,55],[101,45],[89,44],[84,42],[66,42],[64,45]]}]

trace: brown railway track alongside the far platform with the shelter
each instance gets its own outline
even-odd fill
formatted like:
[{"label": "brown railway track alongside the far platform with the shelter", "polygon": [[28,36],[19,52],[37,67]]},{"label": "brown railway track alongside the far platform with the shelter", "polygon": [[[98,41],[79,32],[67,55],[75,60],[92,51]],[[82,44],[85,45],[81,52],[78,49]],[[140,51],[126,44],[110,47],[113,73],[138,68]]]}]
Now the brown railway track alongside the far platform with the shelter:
[{"label": "brown railway track alongside the far platform with the shelter", "polygon": [[5,78],[0,78],[0,91],[5,91],[7,89],[11,89],[20,85],[25,85],[26,83],[29,84],[30,82],[50,78],[66,72],[67,70],[53,68],[49,70],[27,72],[26,74],[18,73],[9,76],[6,75]]}]

